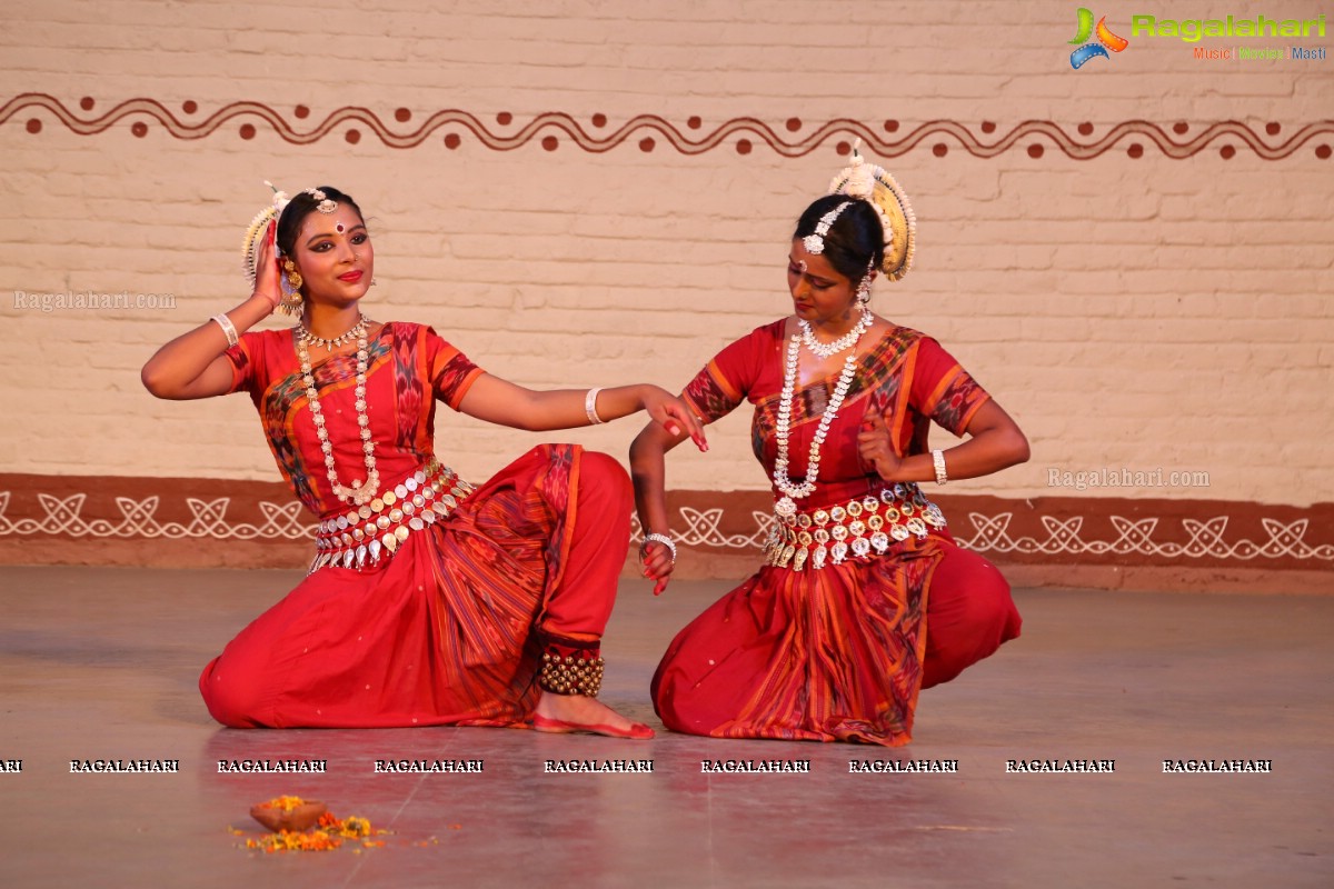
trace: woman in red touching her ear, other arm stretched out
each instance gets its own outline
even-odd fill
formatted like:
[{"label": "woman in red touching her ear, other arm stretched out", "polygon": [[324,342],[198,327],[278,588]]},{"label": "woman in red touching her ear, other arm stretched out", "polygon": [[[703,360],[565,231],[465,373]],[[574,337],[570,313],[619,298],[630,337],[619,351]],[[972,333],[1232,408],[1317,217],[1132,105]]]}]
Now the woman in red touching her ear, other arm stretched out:
[{"label": "woman in red touching her ear, other arm stretched out", "polygon": [[[276,245],[276,253],[275,253]],[[252,296],[144,365],[161,399],[249,393],[277,466],[320,517],[311,570],[200,677],[237,728],[492,725],[650,738],[595,700],[630,540],[611,457],[531,449],[472,485],[435,457],[435,400],[518,429],[647,411],[704,439],[652,385],[534,392],[420,324],[360,311],[375,252],[356,203],[276,192],[245,239]],[[281,265],[280,265],[281,263]],[[248,332],[275,308],[292,329]]]}]

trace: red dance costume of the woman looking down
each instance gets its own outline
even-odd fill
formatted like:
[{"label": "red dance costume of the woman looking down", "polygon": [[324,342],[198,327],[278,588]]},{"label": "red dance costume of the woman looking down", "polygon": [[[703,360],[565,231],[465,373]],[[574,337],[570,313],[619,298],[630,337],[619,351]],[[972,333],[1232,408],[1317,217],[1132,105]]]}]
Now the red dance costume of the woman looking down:
[{"label": "red dance costume of the woman looking down", "polygon": [[[755,405],[751,443],[770,477],[783,329],[776,321],[738,340],[686,388],[710,423],[743,400]],[[834,375],[796,388],[788,453],[798,481],[836,383]],[[856,444],[867,411],[878,411],[898,453],[926,453],[931,421],[963,435],[988,397],[916,331],[891,328],[858,357],[820,448],[816,490],[799,501],[791,524],[775,522],[768,564],[687,625],[663,656],[652,696],[668,728],[907,744],[922,688],[954,678],[1019,634],[1000,573],[954,542],[918,485],[868,472]]]}]

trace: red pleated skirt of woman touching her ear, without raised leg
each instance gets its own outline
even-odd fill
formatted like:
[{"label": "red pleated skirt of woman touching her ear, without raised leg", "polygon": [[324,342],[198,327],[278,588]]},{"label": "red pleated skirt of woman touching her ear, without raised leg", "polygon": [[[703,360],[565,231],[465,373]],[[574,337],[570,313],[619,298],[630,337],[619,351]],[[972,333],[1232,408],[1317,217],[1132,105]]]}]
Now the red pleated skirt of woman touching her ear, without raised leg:
[{"label": "red pleated skirt of woman touching her ear, without raised leg", "polygon": [[522,722],[580,456],[534,448],[392,558],[308,576],[204,668],[209,713],[237,728]]}]

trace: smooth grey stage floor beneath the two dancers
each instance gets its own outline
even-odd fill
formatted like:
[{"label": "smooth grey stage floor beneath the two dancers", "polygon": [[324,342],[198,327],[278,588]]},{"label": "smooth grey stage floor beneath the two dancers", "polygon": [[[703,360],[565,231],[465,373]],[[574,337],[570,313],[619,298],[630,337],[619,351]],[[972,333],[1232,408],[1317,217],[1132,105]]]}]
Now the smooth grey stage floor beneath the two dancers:
[{"label": "smooth grey stage floor beneath the two dancers", "polygon": [[[922,696],[906,749],[632,742],[510,729],[237,732],[203,664],[299,574],[0,568],[0,886],[1331,886],[1334,596],[1019,590],[1023,638]],[[603,697],[656,725],[648,677],[724,590],[626,582]],[[323,758],[323,776],[219,774]],[[173,758],[176,774],[71,774]],[[379,758],[483,760],[375,774]],[[651,774],[548,774],[547,760]],[[703,760],[810,761],[703,774]],[[851,774],[850,760],[958,773]],[[1270,760],[1165,774],[1163,760]],[[1115,760],[1007,773],[1007,760]],[[247,850],[279,793],[394,830],[383,848]],[[256,836],[249,833],[249,836]]]}]

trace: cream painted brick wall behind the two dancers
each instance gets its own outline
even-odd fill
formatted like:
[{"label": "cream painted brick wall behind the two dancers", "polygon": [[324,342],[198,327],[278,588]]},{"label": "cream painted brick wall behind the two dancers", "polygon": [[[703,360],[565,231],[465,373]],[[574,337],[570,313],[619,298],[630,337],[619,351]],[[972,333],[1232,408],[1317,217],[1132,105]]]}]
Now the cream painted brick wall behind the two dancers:
[{"label": "cream painted brick wall behind the two dancers", "polygon": [[[1249,8],[1249,7],[1247,7]],[[1223,67],[1189,44],[1138,40],[1069,67],[1067,3],[320,4],[9,3],[0,103],[28,92],[80,120],[153,99],[189,125],[225,105],[271,105],[299,132],[344,107],[408,133],[438,111],[512,136],[566,112],[603,139],[655,115],[690,139],[750,117],[796,141],[826,121],[902,139],[951,120],[991,144],[1025,120],[1089,143],[1146,120],[1177,143],[1235,120],[1269,145],[1334,119],[1334,60]],[[1107,12],[1094,9],[1097,15]],[[1267,15],[1314,17],[1315,3]],[[1201,16],[1241,15],[1219,3]],[[1165,13],[1166,15],[1166,13]],[[1185,13],[1182,13],[1185,15]],[[1110,12],[1130,36],[1129,13]],[[1118,27],[1119,25],[1119,27]],[[1278,40],[1253,41],[1282,43]],[[1330,45],[1334,35],[1309,45]],[[80,99],[95,100],[91,111]],[[183,103],[197,103],[193,113]],[[305,105],[304,119],[293,116]],[[407,108],[407,123],[395,109]],[[508,112],[508,124],[498,115]],[[603,127],[594,115],[606,115]],[[691,116],[698,129],[687,127]],[[799,119],[796,131],[786,121]],[[41,131],[29,133],[29,119]],[[886,120],[899,121],[887,133]],[[135,121],[148,124],[136,137]],[[984,133],[983,121],[995,129]],[[1093,133],[1077,135],[1081,123]],[[1171,132],[1185,121],[1185,135]],[[239,136],[243,124],[256,135]],[[1277,123],[1277,135],[1263,135]],[[356,128],[358,144],[343,133]],[[462,136],[451,151],[446,133]],[[559,139],[544,151],[542,136]],[[360,121],[291,145],[256,115],[203,139],[147,115],[75,135],[25,109],[0,125],[0,469],[271,478],[244,396],[152,400],[152,349],[243,293],[236,245],[265,200],[331,183],[371,216],[374,317],[427,321],[483,367],[531,385],[651,380],[676,388],[718,348],[783,313],[786,239],[840,165],[846,135],[787,159],[754,132],[684,156],[651,128],[586,152],[546,127],[515,151],[459,125],[411,149]],[[652,137],[655,151],[639,149]],[[739,155],[738,139],[754,144]],[[1126,155],[1134,141],[1139,159]],[[931,147],[948,147],[936,157]],[[1041,144],[1041,159],[1027,147]],[[914,199],[918,263],[876,308],[940,339],[1021,421],[1033,461],[968,482],[1027,497],[1047,469],[1201,469],[1207,489],[1085,492],[1306,504],[1334,498],[1334,160],[1263,160],[1237,137],[1173,160],[1143,135],[1091,160],[1045,136],[979,159],[932,135],[884,160]],[[1230,160],[1219,156],[1233,145]],[[16,309],[9,291],[173,293],[175,309]],[[708,456],[674,458],[678,488],[760,488],[748,419]],[[623,456],[634,421],[566,437]],[[542,436],[442,412],[439,452],[466,474]]]}]

